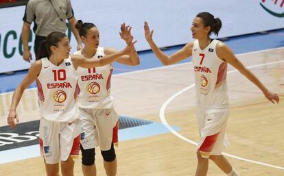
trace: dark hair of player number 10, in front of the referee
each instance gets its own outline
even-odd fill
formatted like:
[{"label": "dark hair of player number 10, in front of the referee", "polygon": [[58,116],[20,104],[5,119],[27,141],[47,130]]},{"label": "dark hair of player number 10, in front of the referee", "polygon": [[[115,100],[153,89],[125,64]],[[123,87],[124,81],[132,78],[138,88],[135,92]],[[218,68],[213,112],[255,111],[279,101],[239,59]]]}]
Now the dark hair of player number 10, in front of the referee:
[{"label": "dark hair of player number 10, in front of the referee", "polygon": [[49,58],[51,55],[51,46],[58,47],[58,42],[62,40],[62,38],[67,37],[66,34],[62,32],[51,32],[47,39],[40,42],[40,47],[38,50],[38,58],[36,60],[40,60],[41,58]]}]

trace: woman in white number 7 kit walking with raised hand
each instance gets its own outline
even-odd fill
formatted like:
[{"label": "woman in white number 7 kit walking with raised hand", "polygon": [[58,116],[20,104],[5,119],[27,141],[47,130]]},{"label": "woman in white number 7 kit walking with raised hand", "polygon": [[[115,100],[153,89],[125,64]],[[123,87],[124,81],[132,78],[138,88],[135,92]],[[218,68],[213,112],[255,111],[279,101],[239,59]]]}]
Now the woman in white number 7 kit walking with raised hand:
[{"label": "woman in white number 7 kit walking with raised hand", "polygon": [[154,43],[153,30],[145,22],[145,38],[156,57],[164,64],[174,64],[192,55],[196,75],[197,118],[200,131],[200,142],[197,157],[196,175],[206,175],[209,159],[213,160],[224,173],[230,176],[239,175],[222,155],[228,145],[225,136],[227,118],[230,112],[226,86],[227,63],[247,77],[263,92],[272,103],[279,102],[279,97],[270,92],[233,54],[223,42],[213,40],[211,32],[218,35],[222,27],[220,18],[214,18],[209,12],[198,14],[192,22],[191,41],[172,55],[166,55]]}]

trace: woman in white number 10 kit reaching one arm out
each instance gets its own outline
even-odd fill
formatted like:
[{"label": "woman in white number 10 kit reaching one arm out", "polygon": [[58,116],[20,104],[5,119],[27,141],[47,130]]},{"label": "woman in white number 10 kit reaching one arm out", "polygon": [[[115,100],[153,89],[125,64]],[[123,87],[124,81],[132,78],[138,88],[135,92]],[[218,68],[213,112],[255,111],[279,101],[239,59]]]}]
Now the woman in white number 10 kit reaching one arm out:
[{"label": "woman in white number 10 kit reaching one arm out", "polygon": [[60,161],[62,175],[73,176],[74,162],[71,156],[78,155],[80,146],[80,122],[76,105],[80,92],[77,68],[110,64],[124,54],[132,54],[132,44],[100,60],[88,60],[82,55],[69,55],[69,39],[61,32],[52,32],[42,42],[40,55],[43,59],[32,64],[27,76],[16,88],[7,121],[12,128],[16,127],[15,120],[19,121],[16,107],[25,88],[36,80],[41,116],[40,152],[48,176],[58,176]]}]

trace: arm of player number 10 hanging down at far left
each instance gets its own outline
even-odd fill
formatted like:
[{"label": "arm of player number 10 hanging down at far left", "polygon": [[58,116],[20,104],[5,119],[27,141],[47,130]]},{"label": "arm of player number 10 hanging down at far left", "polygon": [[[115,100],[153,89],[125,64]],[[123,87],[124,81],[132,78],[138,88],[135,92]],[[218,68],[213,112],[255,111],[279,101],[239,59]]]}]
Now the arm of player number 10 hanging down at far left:
[{"label": "arm of player number 10 hanging down at far left", "polygon": [[10,106],[10,112],[9,112],[9,115],[8,115],[8,118],[7,118],[7,123],[12,128],[16,127],[15,120],[17,122],[19,122],[19,119],[16,116],[16,107],[18,106],[18,104],[21,100],[23,92],[30,84],[32,84],[34,79],[36,79],[36,77],[38,77],[38,75],[40,73],[40,69],[41,69],[41,60],[38,60],[38,61],[34,62],[34,64],[32,64],[32,66],[29,68],[27,75],[25,76],[25,78],[23,79],[21,84],[14,91],[12,103],[11,103],[11,106]]}]

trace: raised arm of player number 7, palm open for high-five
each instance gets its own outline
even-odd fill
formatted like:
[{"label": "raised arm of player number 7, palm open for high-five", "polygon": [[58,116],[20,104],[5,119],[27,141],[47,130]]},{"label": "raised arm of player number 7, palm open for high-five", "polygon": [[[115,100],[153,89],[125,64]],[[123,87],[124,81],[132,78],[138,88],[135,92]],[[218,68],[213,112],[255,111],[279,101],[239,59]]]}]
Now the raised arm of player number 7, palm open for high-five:
[{"label": "raised arm of player number 7, palm open for high-five", "polygon": [[185,60],[186,58],[192,55],[193,42],[187,43],[185,47],[182,47],[182,49],[176,51],[176,53],[172,55],[167,55],[163,51],[161,51],[161,49],[159,49],[158,46],[154,43],[154,40],[152,38],[154,30],[150,31],[150,27],[147,22],[144,23],[144,32],[145,38],[149,43],[152,51],[154,52],[156,57],[162,62],[163,65],[175,64],[176,62]]}]

